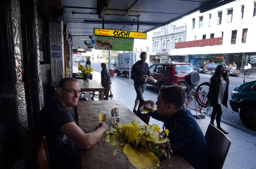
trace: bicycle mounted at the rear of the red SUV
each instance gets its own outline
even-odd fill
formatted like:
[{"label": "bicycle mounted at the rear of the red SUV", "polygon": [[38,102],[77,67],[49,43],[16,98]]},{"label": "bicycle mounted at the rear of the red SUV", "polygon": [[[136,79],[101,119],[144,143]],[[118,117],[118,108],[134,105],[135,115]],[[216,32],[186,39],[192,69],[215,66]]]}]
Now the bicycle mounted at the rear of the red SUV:
[{"label": "bicycle mounted at the rear of the red SUV", "polygon": [[[209,92],[210,83],[204,82],[198,85],[200,80],[200,76],[197,72],[191,72],[186,77],[186,80],[180,80],[177,84],[180,85],[186,92],[186,107],[190,109],[194,109],[196,115],[194,117],[200,119],[205,118],[202,115],[201,111],[207,107],[207,95]],[[196,89],[195,87],[198,86]],[[189,106],[189,103],[195,99],[195,107]],[[198,106],[196,106],[196,102]],[[201,115],[197,115],[197,111],[200,112]]]}]

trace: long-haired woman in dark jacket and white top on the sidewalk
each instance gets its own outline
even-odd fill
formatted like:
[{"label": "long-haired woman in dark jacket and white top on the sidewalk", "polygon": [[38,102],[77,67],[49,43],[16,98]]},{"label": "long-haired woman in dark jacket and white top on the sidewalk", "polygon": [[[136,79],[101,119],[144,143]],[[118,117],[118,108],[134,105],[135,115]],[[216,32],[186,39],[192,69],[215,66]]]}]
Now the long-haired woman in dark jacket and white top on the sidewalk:
[{"label": "long-haired woman in dark jacket and white top on the sidewalk", "polygon": [[217,128],[224,134],[228,134],[227,131],[221,128],[221,104],[227,107],[229,85],[229,78],[227,76],[227,69],[225,65],[221,64],[216,67],[214,74],[210,78],[210,82],[211,84],[207,96],[207,103],[213,107],[210,124],[214,125],[214,119],[216,116]]}]

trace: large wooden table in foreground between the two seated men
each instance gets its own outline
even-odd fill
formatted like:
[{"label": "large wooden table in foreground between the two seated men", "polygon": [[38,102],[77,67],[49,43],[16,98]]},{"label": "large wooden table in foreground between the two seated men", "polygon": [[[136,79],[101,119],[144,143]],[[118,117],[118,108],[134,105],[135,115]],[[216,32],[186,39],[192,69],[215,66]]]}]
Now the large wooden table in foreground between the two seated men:
[{"label": "large wooden table in foreground between the two seated men", "polygon": [[[106,121],[108,130],[111,129],[111,109],[119,108],[120,124],[129,124],[137,119],[140,124],[145,124],[134,115],[122,102],[117,100],[79,101],[78,119],[79,127],[86,133],[93,132],[99,124],[99,109],[106,109]],[[104,143],[104,134],[98,143],[91,149],[81,149],[81,169],[127,169],[127,157],[118,153],[113,156],[116,149],[108,142]],[[171,145],[172,146],[172,145]],[[200,161],[198,161],[200,163]],[[168,166],[171,165],[172,167]],[[173,156],[171,160],[160,161],[160,169],[193,169],[193,167],[181,156]]]}]

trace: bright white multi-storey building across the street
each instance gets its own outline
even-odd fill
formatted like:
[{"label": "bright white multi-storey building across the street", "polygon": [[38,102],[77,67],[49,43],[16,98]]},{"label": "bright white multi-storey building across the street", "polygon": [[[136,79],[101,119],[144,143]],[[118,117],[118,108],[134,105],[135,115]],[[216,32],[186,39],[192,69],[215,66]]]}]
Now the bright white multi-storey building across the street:
[{"label": "bright white multi-storey building across the street", "polygon": [[185,61],[201,67],[233,62],[239,68],[248,62],[256,67],[256,0],[237,0],[204,13],[197,11],[178,22],[186,23],[186,42],[222,37],[222,44],[188,47],[189,43],[176,43],[175,47],[181,48],[172,49],[171,55],[186,55]]}]

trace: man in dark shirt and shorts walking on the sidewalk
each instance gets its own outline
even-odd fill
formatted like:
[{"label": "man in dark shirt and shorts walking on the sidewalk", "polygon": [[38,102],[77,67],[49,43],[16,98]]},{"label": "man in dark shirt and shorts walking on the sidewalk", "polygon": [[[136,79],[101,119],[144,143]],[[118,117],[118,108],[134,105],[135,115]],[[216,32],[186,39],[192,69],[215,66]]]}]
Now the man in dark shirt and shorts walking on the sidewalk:
[{"label": "man in dark shirt and shorts walking on the sidewalk", "polygon": [[134,89],[137,93],[137,97],[134,104],[133,112],[137,114],[137,106],[139,105],[140,100],[144,100],[143,93],[146,89],[146,81],[145,75],[150,76],[148,63],[146,63],[147,53],[140,53],[140,60],[137,61],[131,69],[131,78],[134,80]]}]

